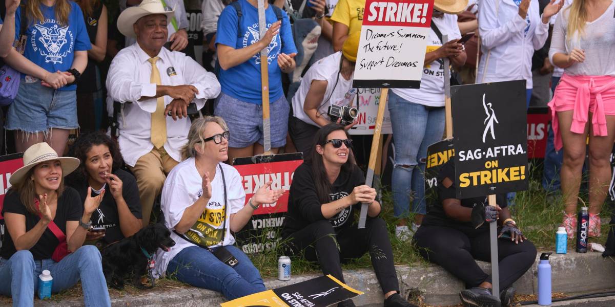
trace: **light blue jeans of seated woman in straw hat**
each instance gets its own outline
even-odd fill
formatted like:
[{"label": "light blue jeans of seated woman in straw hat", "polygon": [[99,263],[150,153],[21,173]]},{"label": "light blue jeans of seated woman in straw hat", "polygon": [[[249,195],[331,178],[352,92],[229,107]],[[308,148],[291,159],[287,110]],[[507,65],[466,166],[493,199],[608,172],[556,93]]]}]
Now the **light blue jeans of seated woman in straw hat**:
[{"label": "light blue jeans of seated woman in straw hat", "polygon": [[85,306],[111,306],[100,252],[92,245],[79,247],[60,262],[34,260],[26,250],[8,260],[0,258],[0,294],[12,297],[13,306],[33,306],[38,276],[43,270],[49,270],[54,278],[52,292],[66,290],[81,280]]}]

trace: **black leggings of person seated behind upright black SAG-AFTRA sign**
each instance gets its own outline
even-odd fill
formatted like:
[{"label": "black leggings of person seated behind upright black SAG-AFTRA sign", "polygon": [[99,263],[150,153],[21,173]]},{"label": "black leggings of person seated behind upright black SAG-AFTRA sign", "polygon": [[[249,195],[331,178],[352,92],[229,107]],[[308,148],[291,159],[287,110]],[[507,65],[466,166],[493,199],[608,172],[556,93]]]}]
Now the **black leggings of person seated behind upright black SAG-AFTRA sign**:
[{"label": "black leggings of person seated behind upright black SAG-AFTRA sign", "polygon": [[[491,262],[489,231],[468,236],[451,227],[423,225],[416,231],[415,242],[423,258],[466,282],[466,287],[491,282],[491,276],[474,261]],[[498,239],[498,257],[500,289],[506,289],[534,264],[536,247],[528,240],[515,244]]]}]

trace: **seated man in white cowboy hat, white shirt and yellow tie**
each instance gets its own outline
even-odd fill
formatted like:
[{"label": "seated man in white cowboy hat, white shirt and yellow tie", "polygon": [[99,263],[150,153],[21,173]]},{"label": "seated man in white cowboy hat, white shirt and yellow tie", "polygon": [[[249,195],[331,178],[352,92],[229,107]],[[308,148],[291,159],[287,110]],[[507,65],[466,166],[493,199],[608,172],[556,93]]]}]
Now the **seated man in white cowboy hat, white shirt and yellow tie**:
[{"label": "seated man in white cowboy hat, white shirt and yellow tie", "polygon": [[117,28],[137,37],[137,44],[117,53],[106,84],[109,96],[122,104],[118,141],[137,177],[144,227],[166,174],[180,161],[190,128],[188,105],[201,109],[220,93],[214,74],[184,53],[163,48],[172,15],[160,0],[143,0],[119,15]]}]

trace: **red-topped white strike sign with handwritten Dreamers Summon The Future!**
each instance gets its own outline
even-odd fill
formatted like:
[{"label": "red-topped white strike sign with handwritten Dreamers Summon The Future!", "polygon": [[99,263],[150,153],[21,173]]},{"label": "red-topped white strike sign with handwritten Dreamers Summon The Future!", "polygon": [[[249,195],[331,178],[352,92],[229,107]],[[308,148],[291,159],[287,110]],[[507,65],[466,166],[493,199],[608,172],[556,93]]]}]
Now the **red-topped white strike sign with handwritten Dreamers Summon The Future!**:
[{"label": "red-topped white strike sign with handwritten Dreamers Summon The Future!", "polygon": [[433,9],[433,0],[367,0],[352,86],[419,88]]}]

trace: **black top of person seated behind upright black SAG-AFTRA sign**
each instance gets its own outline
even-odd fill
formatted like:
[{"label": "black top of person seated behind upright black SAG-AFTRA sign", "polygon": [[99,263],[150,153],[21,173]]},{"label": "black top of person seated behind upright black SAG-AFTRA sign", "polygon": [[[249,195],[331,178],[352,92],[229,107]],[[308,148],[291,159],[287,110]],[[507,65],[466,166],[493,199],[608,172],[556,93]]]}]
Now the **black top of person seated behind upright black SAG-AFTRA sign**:
[{"label": "black top of person seated behind upright black SAG-AFTRA sign", "polygon": [[[448,188],[444,187],[444,185],[442,184],[442,181],[446,177],[448,177],[448,179],[451,179],[451,181],[453,182],[453,184],[451,184],[451,186]],[[446,226],[458,229],[460,231],[463,231],[464,233],[482,233],[483,231],[488,230],[488,223],[483,223],[481,227],[475,228],[474,226],[472,226],[471,222],[459,222],[458,220],[454,220],[451,217],[446,216],[446,213],[444,212],[444,208],[442,206],[442,201],[448,198],[457,198],[455,190],[455,178],[455,163],[454,160],[451,159],[448,160],[448,162],[446,162],[445,165],[442,166],[442,169],[440,169],[440,173],[438,174],[437,179],[438,199],[437,201],[431,200],[429,202],[429,205],[427,206],[427,216],[423,219],[422,225]],[[506,208],[506,195],[496,195],[496,203],[501,208]],[[474,197],[461,200],[461,206],[464,206],[466,208],[474,208],[474,206],[476,206],[477,204],[483,204],[486,206],[488,204],[487,197]]]}]

